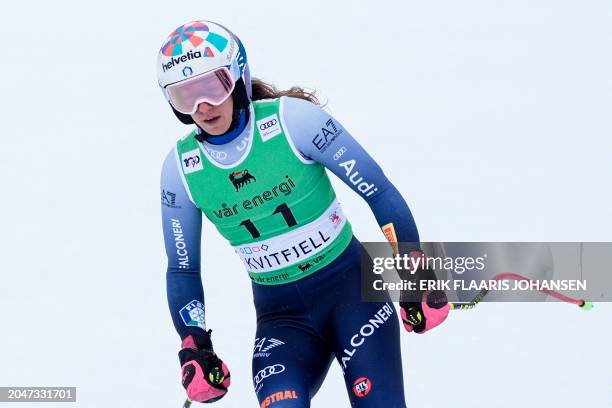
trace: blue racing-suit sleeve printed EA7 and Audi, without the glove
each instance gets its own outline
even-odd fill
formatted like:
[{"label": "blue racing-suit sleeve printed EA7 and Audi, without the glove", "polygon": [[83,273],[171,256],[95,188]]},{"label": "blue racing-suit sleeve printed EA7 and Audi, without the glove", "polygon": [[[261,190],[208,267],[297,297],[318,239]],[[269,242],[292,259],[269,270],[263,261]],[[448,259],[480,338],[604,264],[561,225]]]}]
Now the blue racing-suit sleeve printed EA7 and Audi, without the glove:
[{"label": "blue racing-suit sleeve printed EA7 and Audi, without the glove", "polygon": [[388,238],[394,231],[397,242],[419,242],[406,201],[340,122],[302,99],[285,97],[283,104],[284,122],[298,152],[325,166],[359,194]]}]

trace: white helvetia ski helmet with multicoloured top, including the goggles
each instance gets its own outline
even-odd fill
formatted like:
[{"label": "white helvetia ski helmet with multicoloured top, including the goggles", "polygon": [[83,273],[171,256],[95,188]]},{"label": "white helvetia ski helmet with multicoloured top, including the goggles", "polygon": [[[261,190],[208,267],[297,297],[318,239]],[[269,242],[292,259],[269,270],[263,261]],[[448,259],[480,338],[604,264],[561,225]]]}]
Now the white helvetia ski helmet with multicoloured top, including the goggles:
[{"label": "white helvetia ski helmet with multicoloured top, including the goggles", "polygon": [[157,79],[166,100],[183,123],[201,102],[222,103],[231,94],[237,108],[251,100],[244,47],[225,27],[199,20],[174,30],[157,56]]}]

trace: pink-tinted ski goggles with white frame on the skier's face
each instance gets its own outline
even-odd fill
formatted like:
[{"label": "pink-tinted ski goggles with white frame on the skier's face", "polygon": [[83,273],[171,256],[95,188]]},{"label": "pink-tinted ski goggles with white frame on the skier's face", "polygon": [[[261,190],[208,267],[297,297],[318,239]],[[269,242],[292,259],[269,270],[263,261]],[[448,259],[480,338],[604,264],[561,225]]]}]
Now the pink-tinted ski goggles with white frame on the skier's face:
[{"label": "pink-tinted ski goggles with white frame on the skier's face", "polygon": [[232,94],[234,80],[227,67],[206,72],[187,81],[168,85],[164,92],[174,109],[192,115],[202,102],[221,105]]}]

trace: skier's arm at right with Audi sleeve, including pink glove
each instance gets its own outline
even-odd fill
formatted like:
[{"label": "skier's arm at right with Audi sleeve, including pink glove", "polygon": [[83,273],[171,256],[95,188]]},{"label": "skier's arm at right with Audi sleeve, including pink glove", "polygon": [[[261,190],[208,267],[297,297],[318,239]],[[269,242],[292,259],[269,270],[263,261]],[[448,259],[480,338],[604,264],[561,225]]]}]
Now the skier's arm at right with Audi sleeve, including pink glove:
[{"label": "skier's arm at right with Audi sleeve, including pink glove", "polygon": [[[289,140],[304,159],[331,170],[370,206],[390,242],[412,242],[422,256],[419,233],[406,201],[376,161],[329,113],[301,99],[283,98],[283,119]],[[395,248],[397,249],[397,248]],[[433,270],[418,268],[413,279],[435,279]],[[424,333],[441,324],[449,313],[441,290],[417,294],[420,301],[400,302],[402,322],[409,332]]]}]

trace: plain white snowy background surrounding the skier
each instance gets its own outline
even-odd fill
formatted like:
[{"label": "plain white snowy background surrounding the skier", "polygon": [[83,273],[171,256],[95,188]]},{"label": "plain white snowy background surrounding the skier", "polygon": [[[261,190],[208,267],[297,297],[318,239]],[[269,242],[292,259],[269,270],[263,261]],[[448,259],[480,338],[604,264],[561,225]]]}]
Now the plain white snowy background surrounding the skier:
[{"label": "plain white snowy background surrounding the skier", "polygon": [[[253,4],[3,6],[1,386],[76,386],[79,407],[181,406],[158,183],[187,128],[155,58],[194,19],[237,33],[255,76],[320,90],[423,240],[612,240],[609,1]],[[381,240],[334,183],[356,235]],[[232,370],[215,407],[254,407],[249,280],[208,223],[203,240],[208,325]],[[408,405],[612,406],[611,311],[485,304],[402,333]],[[313,406],[347,401],[334,365]]]}]

